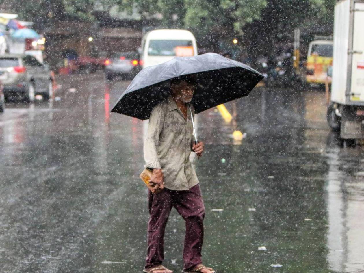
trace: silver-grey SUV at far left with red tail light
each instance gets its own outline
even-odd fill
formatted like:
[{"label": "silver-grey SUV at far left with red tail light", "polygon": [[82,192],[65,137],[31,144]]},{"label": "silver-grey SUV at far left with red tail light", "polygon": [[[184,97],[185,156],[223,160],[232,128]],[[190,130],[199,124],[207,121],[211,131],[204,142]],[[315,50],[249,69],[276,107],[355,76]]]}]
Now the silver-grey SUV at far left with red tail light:
[{"label": "silver-grey SUV at far left with red tail light", "polygon": [[44,100],[53,95],[48,66],[31,55],[0,55],[0,81],[4,85],[5,100],[32,102],[37,94]]}]

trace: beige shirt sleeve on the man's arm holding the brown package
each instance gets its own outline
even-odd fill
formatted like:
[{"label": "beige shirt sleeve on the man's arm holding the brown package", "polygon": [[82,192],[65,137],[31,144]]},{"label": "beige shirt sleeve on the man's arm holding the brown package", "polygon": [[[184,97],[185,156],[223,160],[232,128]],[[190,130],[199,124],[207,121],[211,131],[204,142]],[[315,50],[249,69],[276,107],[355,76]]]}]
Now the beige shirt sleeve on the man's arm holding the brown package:
[{"label": "beige shirt sleeve on the man's arm holding the brown package", "polygon": [[159,135],[161,134],[164,122],[164,115],[161,105],[153,108],[150,114],[147,138],[144,141],[145,168],[162,169],[158,158]]}]

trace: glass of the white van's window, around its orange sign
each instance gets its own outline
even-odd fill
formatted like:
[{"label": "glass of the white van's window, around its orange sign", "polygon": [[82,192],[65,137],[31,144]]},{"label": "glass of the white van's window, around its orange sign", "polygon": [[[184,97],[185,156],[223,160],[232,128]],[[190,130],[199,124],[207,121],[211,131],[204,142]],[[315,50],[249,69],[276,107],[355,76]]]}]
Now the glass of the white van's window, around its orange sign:
[{"label": "glass of the white van's window, around its orange sign", "polygon": [[191,40],[150,40],[149,56],[176,56],[176,47],[192,47]]}]

